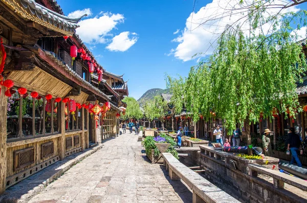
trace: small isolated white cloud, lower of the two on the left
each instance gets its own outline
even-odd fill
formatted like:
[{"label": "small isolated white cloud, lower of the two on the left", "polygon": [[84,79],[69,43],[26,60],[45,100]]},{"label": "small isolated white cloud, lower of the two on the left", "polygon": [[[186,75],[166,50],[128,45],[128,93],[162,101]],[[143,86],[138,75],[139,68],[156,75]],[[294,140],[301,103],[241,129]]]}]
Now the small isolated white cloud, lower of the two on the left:
[{"label": "small isolated white cloud, lower of the two on the left", "polygon": [[[129,34],[133,36],[129,38]],[[113,37],[112,42],[106,47],[106,49],[110,51],[124,52],[137,42],[138,37],[136,35],[136,33],[122,32],[119,35]]]}]

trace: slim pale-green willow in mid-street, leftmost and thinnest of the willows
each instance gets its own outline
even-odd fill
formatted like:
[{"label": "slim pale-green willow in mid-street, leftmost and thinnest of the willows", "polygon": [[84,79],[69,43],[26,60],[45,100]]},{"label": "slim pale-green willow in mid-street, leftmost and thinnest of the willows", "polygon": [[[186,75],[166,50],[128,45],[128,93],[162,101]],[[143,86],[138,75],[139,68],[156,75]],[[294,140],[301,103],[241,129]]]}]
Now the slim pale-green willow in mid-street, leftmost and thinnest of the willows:
[{"label": "slim pale-green willow in mid-street, leftmost and thinnest of the willows", "polygon": [[[179,76],[179,78],[172,78],[169,75],[165,76],[166,87],[169,88],[172,96],[170,102],[168,103],[171,106],[171,122],[172,122],[172,131],[174,131],[174,115],[181,114],[184,107],[184,90],[185,90],[185,79]],[[181,117],[180,117],[181,119]],[[182,120],[181,120],[182,125]]]}]

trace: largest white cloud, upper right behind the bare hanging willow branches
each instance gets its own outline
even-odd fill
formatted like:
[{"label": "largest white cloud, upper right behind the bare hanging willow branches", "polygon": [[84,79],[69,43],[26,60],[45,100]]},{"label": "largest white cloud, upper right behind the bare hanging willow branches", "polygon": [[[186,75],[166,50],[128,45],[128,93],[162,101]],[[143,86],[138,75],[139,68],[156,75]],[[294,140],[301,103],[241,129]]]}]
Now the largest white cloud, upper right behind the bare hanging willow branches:
[{"label": "largest white cloud, upper right behind the bare hanging willow branches", "polygon": [[[245,7],[250,1],[244,1],[244,5],[241,7]],[[268,4],[286,4],[284,2],[284,0],[275,0],[274,2],[269,1]],[[243,22],[246,18],[239,20],[244,14],[247,14],[246,9],[241,8],[238,12],[234,12],[233,8],[240,8],[237,0],[213,0],[212,3],[202,7],[198,12],[192,12],[186,20],[182,34],[171,40],[179,44],[176,48],[170,50],[170,55],[174,55],[174,57],[183,61],[189,61],[192,56],[200,53],[194,57],[195,60],[199,60],[199,58],[213,53],[216,46],[215,41],[227,25],[241,25],[243,30],[247,30],[249,27]],[[271,8],[267,15],[276,14],[279,10],[278,8]],[[297,7],[290,7],[283,12],[297,12],[298,10]],[[262,26],[262,30],[269,31],[269,29],[272,29],[269,25]]]}]

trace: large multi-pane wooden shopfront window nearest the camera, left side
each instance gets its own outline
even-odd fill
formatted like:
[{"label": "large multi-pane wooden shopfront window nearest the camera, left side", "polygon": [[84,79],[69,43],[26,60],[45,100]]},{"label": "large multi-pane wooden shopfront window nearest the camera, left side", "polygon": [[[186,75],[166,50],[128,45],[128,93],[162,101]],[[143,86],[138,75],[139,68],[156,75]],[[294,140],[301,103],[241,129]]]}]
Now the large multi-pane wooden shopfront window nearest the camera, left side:
[{"label": "large multi-pane wooden shopfront window nearest the camera, left side", "polygon": [[38,96],[37,99],[33,99],[30,94],[29,92],[20,98],[15,92],[8,98],[7,138],[10,141],[59,132],[60,109],[54,112],[58,104],[54,104],[52,99],[49,103],[51,111],[47,112],[45,97]]}]

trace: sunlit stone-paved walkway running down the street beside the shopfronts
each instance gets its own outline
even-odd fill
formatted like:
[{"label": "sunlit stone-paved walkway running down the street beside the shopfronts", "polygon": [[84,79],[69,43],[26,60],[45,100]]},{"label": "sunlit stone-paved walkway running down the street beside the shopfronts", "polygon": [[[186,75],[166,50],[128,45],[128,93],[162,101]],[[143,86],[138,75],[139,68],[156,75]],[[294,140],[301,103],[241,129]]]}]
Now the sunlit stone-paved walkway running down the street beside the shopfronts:
[{"label": "sunlit stone-paved walkway running down the street beside the shopfronts", "polygon": [[190,190],[163,165],[151,165],[137,140],[134,133],[107,140],[29,202],[192,202]]}]

